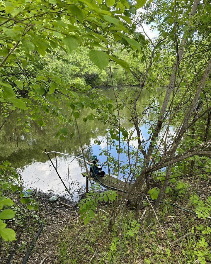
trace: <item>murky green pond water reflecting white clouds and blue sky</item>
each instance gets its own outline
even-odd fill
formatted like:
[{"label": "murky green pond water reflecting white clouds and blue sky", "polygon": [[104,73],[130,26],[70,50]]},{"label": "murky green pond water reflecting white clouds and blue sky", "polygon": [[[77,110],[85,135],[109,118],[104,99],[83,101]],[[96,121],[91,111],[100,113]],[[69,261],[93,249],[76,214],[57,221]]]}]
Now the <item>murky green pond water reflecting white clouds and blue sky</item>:
[{"label": "murky green pond water reflecting white clouds and blue sky", "polygon": [[[106,90],[102,89],[101,92],[111,99],[114,99],[113,91],[110,88]],[[143,90],[142,96],[138,101],[139,109],[143,108],[150,97],[153,97],[153,95],[156,96],[157,94],[160,94],[160,96],[155,101],[155,104],[161,104],[164,94],[160,90],[154,90],[153,92]],[[128,98],[128,94],[124,89],[119,91],[118,96],[122,100]],[[153,109],[150,109],[150,111],[153,111]],[[87,121],[87,123],[84,123],[83,117],[87,116],[90,112],[91,110],[84,109],[78,119],[81,140],[84,148],[86,147],[86,158],[90,160],[92,155],[97,155],[101,162],[105,162],[107,160],[106,156],[99,156],[99,154],[106,148],[106,126],[98,121]],[[8,160],[12,163],[13,167],[22,175],[26,188],[37,188],[40,191],[51,194],[66,195],[68,198],[67,192],[47,155],[42,153],[42,151],[46,149],[47,151],[78,155],[81,151],[81,146],[77,133],[75,132],[72,140],[61,141],[59,138],[55,138],[55,134],[57,133],[57,129],[54,128],[56,120],[50,119],[45,127],[40,127],[36,122],[32,121],[30,123],[30,132],[26,134],[22,131],[21,126],[17,125],[16,118],[18,116],[20,116],[20,113],[13,112],[1,129],[0,160]],[[130,110],[127,107],[121,111],[121,117],[122,126],[128,131],[132,130],[134,126],[130,122]],[[0,123],[2,123],[2,120],[0,120]],[[15,127],[18,134],[18,146],[16,145],[16,136],[13,136]],[[143,138],[146,139],[149,136],[147,133],[149,127],[146,124],[140,124],[140,128]],[[135,133],[134,136],[136,136]],[[95,139],[100,140],[101,145],[94,144]],[[137,148],[136,141],[132,141],[130,144],[131,148]],[[116,158],[118,157],[116,149],[112,148],[111,154]],[[51,155],[51,158],[55,164],[55,156]],[[126,161],[126,157],[123,154],[120,155],[120,159]],[[84,192],[86,185],[86,179],[81,175],[81,172],[85,171],[83,162],[57,154],[57,170],[72,193],[72,197],[69,198],[74,200],[78,199],[79,194]]]}]

